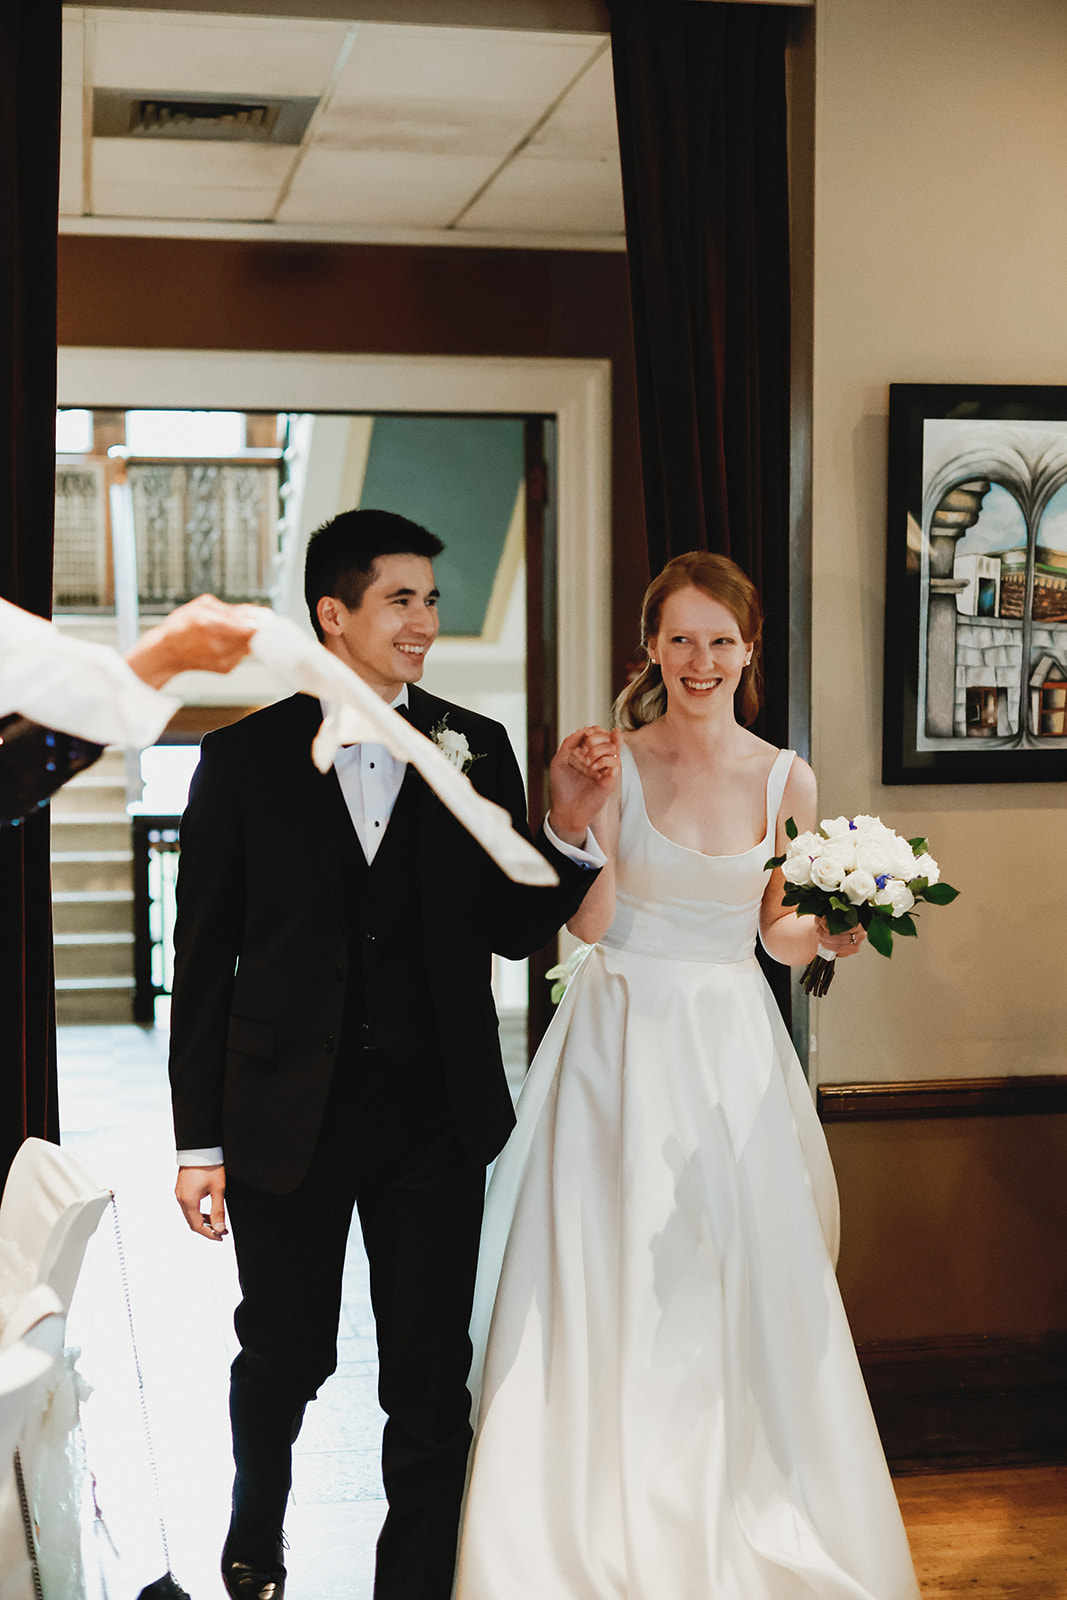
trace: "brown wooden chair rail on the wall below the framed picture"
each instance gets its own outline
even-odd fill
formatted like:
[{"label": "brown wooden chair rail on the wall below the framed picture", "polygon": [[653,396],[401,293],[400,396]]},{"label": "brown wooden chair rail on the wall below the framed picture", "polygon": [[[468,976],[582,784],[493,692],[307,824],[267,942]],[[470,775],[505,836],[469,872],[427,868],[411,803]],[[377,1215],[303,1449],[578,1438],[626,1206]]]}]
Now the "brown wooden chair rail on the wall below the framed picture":
[{"label": "brown wooden chair rail on the wall below the framed picture", "polygon": [[1016,1078],[933,1078],[923,1083],[822,1083],[817,1104],[822,1122],[1067,1112],[1067,1072]]}]

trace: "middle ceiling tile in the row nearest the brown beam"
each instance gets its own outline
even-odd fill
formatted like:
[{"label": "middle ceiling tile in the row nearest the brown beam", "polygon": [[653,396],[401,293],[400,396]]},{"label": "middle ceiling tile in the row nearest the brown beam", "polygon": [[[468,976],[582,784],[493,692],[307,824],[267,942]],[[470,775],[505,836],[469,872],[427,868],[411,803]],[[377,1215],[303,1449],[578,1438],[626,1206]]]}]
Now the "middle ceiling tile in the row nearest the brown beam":
[{"label": "middle ceiling tile in the row nearest the brown beam", "polygon": [[493,173],[469,155],[310,150],[278,222],[445,227]]}]

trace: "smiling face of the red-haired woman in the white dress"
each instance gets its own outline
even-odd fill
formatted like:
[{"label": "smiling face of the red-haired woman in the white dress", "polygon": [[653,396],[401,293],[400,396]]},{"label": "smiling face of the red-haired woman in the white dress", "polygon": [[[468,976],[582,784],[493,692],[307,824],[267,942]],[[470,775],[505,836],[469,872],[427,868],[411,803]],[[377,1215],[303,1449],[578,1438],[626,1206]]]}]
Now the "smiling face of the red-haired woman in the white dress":
[{"label": "smiling face of the red-haired woman in the white dress", "polygon": [[648,640],[669,706],[728,706],[752,654],[733,611],[702,589],[667,595],[659,629]]}]

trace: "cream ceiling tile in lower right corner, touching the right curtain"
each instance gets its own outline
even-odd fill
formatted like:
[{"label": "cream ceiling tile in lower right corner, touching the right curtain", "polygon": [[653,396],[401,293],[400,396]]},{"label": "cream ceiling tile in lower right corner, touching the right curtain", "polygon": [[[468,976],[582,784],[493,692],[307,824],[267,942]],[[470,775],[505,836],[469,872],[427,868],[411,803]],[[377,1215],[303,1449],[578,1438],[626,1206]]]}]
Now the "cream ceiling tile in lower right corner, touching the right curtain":
[{"label": "cream ceiling tile in lower right corner, touching the right curtain", "polygon": [[523,152],[466,213],[458,232],[622,234],[622,181],[609,162]]}]

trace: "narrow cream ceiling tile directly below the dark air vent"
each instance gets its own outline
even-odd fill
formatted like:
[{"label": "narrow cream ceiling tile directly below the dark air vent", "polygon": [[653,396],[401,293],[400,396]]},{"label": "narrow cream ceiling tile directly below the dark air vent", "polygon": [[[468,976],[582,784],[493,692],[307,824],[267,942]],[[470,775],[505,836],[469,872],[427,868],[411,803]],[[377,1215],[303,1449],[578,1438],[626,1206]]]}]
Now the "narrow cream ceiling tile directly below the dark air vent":
[{"label": "narrow cream ceiling tile directly below the dark air vent", "polygon": [[[101,187],[122,184],[197,187],[205,195],[213,189],[269,189],[277,194],[294,154],[291,147],[269,144],[93,139],[93,211],[102,211]],[[208,216],[206,211],[203,214]]]}]

